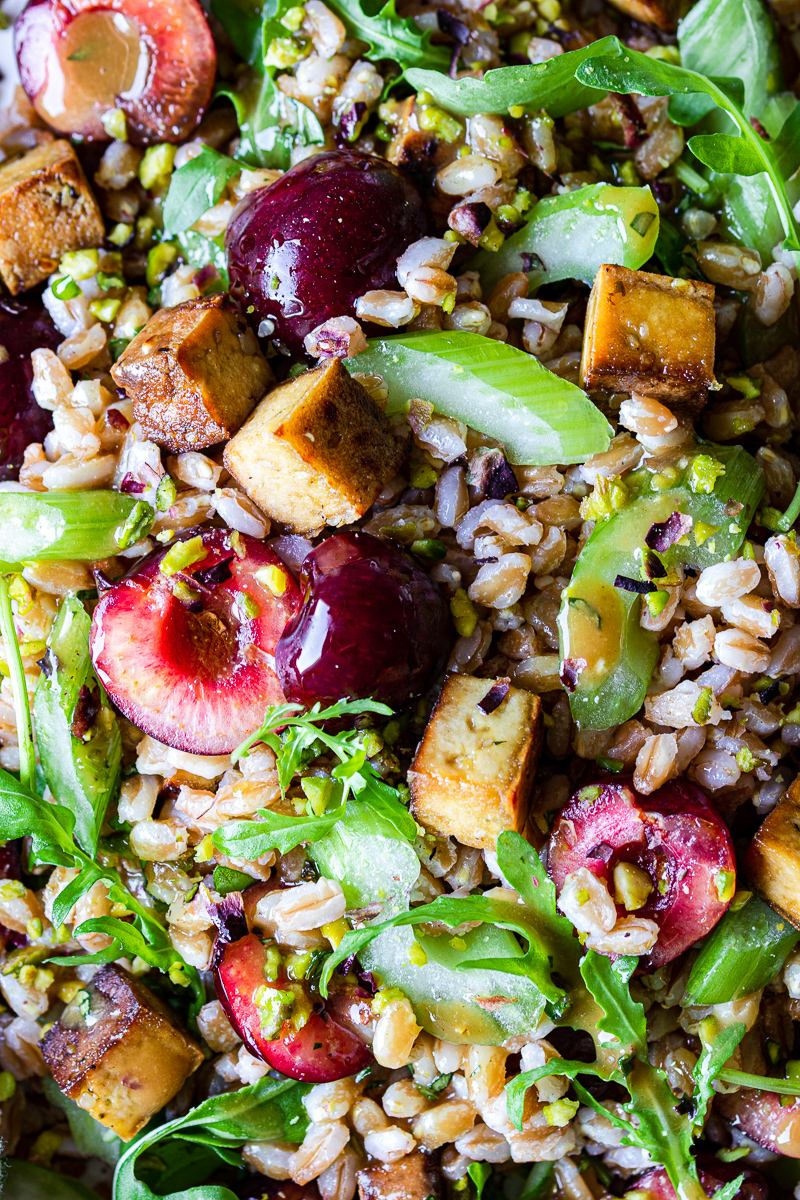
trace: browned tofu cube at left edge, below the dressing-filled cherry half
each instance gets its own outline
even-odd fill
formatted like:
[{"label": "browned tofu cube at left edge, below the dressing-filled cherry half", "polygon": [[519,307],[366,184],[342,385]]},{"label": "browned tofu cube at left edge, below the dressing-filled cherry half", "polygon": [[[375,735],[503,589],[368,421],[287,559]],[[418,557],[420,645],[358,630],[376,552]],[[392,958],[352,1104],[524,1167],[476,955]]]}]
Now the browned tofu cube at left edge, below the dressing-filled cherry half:
[{"label": "browned tofu cube at left edge, below the dressing-filled cherry half", "polygon": [[0,276],[32,288],[61,254],[102,245],[103,218],[68,142],[47,142],[0,166]]}]

